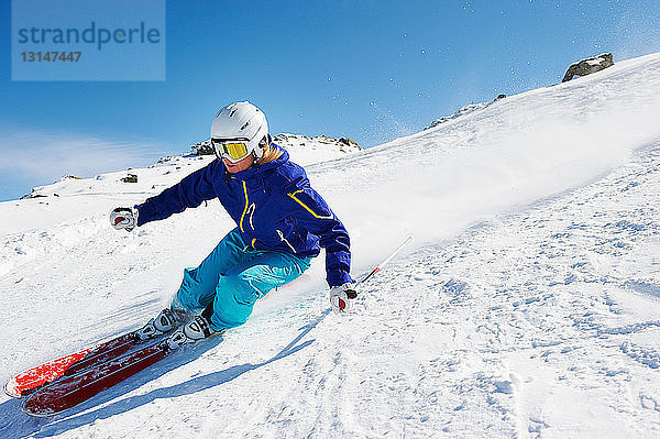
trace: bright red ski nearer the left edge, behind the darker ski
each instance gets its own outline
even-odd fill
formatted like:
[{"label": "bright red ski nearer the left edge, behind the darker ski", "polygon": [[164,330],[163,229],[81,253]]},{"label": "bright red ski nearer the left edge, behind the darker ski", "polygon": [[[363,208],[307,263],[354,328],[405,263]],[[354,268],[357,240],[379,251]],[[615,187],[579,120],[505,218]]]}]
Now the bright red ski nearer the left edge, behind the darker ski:
[{"label": "bright red ski nearer the left edge, behind the darker ski", "polygon": [[10,378],[4,384],[4,393],[14,398],[28,396],[61,376],[74,375],[87,367],[119,356],[131,350],[136,343],[133,332],[130,332],[61,359],[48,361]]}]

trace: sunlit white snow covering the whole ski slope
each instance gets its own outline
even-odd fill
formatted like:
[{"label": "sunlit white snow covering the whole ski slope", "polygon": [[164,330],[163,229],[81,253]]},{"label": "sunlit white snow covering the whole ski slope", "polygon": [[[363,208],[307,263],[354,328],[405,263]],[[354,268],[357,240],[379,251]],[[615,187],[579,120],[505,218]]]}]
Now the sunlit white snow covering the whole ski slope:
[{"label": "sunlit white snow covering the whole ski slope", "polygon": [[[67,414],[31,419],[1,396],[0,437],[660,436],[658,90],[653,54],[310,158],[356,277],[414,235],[351,315],[328,312],[319,257],[245,326]],[[167,303],[229,217],[209,202],[120,233],[107,216],[209,160],[0,204],[6,378]]]}]

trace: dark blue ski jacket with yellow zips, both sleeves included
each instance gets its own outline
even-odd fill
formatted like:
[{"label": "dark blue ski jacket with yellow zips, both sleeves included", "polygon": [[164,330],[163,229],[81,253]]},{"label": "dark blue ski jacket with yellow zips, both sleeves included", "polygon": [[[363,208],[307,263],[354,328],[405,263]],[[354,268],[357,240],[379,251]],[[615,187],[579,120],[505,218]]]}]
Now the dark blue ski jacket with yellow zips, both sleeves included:
[{"label": "dark blue ski jacket with yellow zips, both sleeves included", "polygon": [[215,160],[135,206],[138,226],[216,197],[237,222],[248,246],[298,257],[315,257],[322,246],[328,284],[353,282],[346,229],[311,188],[305,169],[289,161],[286,151],[273,162],[237,174],[228,173],[224,164]]}]

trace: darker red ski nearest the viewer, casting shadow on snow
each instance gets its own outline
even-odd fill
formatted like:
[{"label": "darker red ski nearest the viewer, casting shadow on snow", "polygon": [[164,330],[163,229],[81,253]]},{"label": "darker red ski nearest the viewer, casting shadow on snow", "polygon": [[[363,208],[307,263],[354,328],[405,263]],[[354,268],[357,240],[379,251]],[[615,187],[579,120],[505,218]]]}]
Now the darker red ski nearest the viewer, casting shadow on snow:
[{"label": "darker red ski nearest the viewer, casting shadow on snow", "polygon": [[28,397],[23,411],[38,417],[57,415],[164,359],[168,352],[157,341],[77,374],[62,376]]}]

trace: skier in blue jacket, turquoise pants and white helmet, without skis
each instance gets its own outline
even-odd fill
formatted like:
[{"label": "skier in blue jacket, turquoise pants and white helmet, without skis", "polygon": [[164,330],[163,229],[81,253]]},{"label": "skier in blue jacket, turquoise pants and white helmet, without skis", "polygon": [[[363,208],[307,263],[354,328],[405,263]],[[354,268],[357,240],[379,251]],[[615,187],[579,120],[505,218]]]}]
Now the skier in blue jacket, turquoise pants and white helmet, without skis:
[{"label": "skier in blue jacket, turquoise pants and white helmet, without skis", "polygon": [[254,303],[300,276],[321,246],[331,307],[348,311],[356,297],[349,233],[305,169],[273,142],[264,113],[248,101],[222,108],[211,122],[211,144],[218,158],[208,166],[110,213],[114,229],[132,231],[217,197],[237,223],[198,267],[184,271],[170,306],[138,337],[156,337],[191,318],[167,340],[174,349],[243,325]]}]

